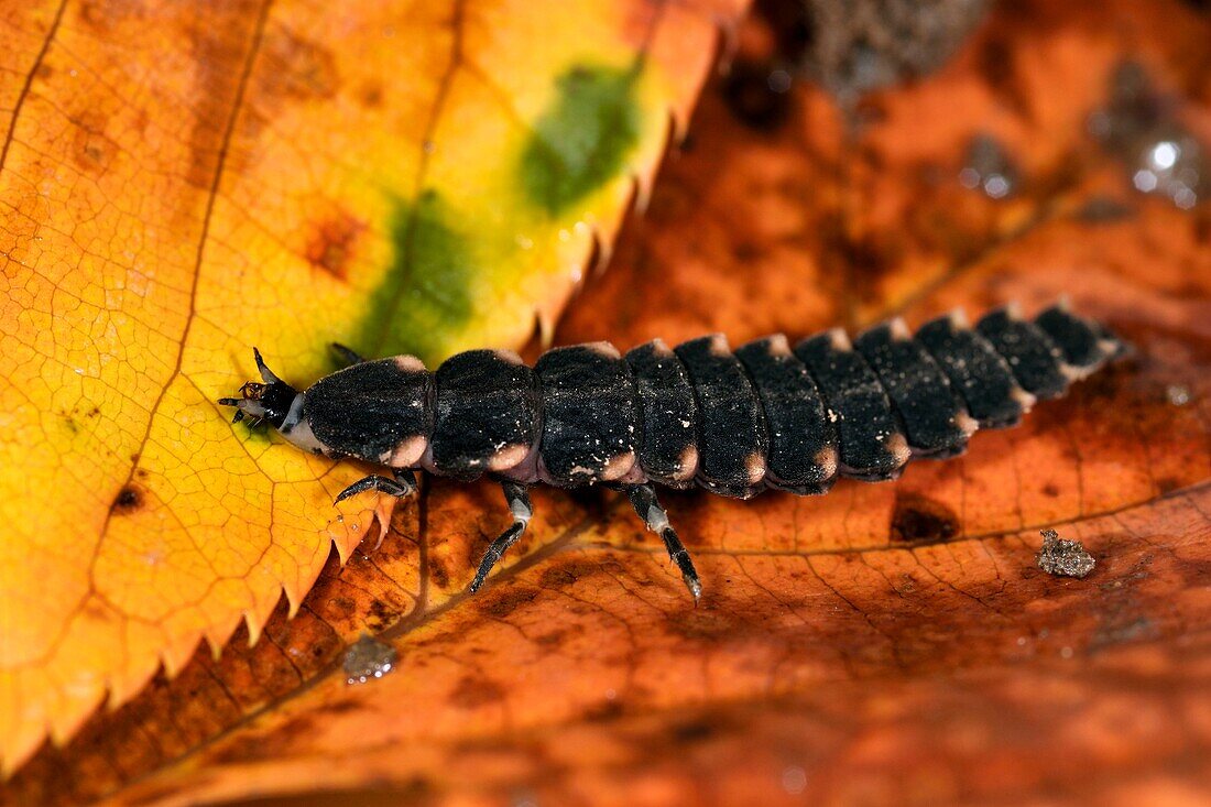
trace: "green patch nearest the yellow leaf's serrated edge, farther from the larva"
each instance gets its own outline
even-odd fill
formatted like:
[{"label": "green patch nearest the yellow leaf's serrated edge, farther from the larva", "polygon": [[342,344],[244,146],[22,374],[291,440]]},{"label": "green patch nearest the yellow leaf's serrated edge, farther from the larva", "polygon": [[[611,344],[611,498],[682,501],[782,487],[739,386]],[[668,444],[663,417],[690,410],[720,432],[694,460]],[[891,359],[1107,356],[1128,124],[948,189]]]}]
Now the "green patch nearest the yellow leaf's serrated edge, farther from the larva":
[{"label": "green patch nearest the yellow leaf's serrated edge, farther from the larva", "polygon": [[551,216],[616,176],[639,139],[639,70],[578,65],[556,79],[556,99],[522,149],[522,188]]}]

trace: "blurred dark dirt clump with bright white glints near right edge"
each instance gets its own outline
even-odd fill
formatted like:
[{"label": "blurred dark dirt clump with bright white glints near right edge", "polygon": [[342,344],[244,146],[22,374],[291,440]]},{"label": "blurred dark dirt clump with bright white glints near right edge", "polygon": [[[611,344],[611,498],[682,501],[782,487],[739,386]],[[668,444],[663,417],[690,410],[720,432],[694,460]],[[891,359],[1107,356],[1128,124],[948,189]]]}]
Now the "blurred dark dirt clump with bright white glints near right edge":
[{"label": "blurred dark dirt clump with bright white glints near right edge", "polygon": [[1177,101],[1131,61],[1114,69],[1108,90],[1106,105],[1089,118],[1090,133],[1126,165],[1136,190],[1194,207],[1211,179],[1206,151],[1178,119]]}]

